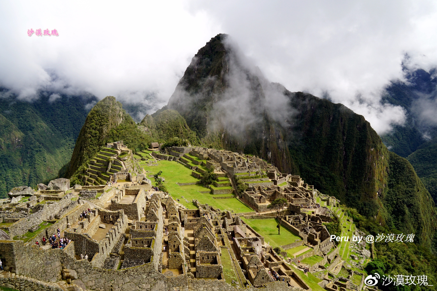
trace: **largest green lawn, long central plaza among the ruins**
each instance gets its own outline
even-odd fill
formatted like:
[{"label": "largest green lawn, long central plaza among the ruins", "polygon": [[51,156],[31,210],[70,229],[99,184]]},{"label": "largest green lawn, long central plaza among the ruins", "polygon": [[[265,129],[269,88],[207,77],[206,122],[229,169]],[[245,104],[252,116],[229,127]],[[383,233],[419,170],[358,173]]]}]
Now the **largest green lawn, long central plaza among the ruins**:
[{"label": "largest green lawn, long central plaza among the ruins", "polygon": [[[253,211],[237,198],[214,199],[215,197],[232,197],[232,194],[212,195],[209,193],[210,189],[202,186],[201,184],[186,186],[177,185],[177,182],[193,183],[199,181],[196,177],[191,176],[192,171],[190,169],[184,165],[181,165],[180,163],[163,160],[159,161],[158,166],[146,166],[145,163],[140,163],[140,165],[143,166],[145,170],[150,172],[147,173],[147,175],[156,174],[159,171],[162,171],[163,173],[161,176],[165,178],[165,185],[168,192],[173,198],[180,199],[180,203],[188,209],[197,208],[192,202],[193,199],[197,199],[201,204],[208,203],[208,205],[211,205],[214,208],[219,208],[220,210],[233,210],[236,213]],[[227,187],[219,187],[219,189],[226,188]],[[232,189],[232,187],[230,188]],[[184,198],[189,202],[186,202],[182,196],[184,196]]]}]

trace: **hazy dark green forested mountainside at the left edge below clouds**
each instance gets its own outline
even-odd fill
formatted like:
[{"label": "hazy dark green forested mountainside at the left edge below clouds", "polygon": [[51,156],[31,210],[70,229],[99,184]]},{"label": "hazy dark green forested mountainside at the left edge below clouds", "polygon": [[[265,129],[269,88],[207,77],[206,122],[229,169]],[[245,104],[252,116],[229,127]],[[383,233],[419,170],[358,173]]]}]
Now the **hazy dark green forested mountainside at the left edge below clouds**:
[{"label": "hazy dark green forested mountainside at the left edge below clouds", "polygon": [[0,198],[4,198],[13,187],[35,187],[59,176],[87,116],[85,106],[95,99],[61,94],[49,102],[51,93],[42,92],[28,102],[2,88],[0,93],[5,93],[0,98]]}]

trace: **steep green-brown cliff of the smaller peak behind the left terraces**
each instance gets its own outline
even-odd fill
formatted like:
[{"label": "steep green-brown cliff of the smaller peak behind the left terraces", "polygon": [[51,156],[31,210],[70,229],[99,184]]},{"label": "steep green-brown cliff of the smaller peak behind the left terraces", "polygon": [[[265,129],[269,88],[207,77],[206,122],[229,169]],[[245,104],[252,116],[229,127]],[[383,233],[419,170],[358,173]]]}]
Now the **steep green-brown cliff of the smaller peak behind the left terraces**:
[{"label": "steep green-brown cliff of the smaller peak behind the left terraces", "polygon": [[126,112],[115,97],[108,96],[97,102],[80,130],[66,177],[71,177],[82,163],[90,159],[104,145],[111,129],[120,125],[125,117]]}]

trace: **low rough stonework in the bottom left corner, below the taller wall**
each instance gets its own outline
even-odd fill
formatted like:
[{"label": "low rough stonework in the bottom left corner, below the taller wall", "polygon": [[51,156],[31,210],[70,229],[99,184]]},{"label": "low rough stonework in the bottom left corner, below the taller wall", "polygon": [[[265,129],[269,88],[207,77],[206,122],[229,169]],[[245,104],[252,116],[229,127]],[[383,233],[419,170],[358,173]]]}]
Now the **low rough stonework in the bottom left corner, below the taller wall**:
[{"label": "low rough stonework in the bottom left corner, below the taller wall", "polygon": [[51,291],[87,291],[74,283],[67,284],[64,280],[45,282],[4,270],[0,270],[0,285],[17,290],[34,290],[38,286],[38,288],[43,287],[45,290]]}]

